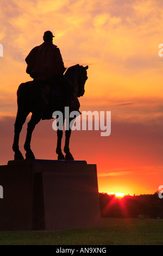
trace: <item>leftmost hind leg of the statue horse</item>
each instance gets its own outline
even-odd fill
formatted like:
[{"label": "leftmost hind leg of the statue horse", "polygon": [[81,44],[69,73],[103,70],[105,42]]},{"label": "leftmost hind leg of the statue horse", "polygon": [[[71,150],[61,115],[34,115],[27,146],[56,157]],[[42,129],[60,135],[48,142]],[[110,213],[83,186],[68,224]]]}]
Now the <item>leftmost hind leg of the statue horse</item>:
[{"label": "leftmost hind leg of the statue horse", "polygon": [[27,115],[29,112],[23,112],[20,110],[20,108],[17,109],[17,115],[16,115],[16,120],[14,124],[14,143],[12,145],[12,150],[15,152],[14,155],[14,160],[23,160],[24,157],[19,150],[18,147],[18,142],[19,142],[19,137],[20,137],[20,132],[22,130],[22,126],[26,121]]}]

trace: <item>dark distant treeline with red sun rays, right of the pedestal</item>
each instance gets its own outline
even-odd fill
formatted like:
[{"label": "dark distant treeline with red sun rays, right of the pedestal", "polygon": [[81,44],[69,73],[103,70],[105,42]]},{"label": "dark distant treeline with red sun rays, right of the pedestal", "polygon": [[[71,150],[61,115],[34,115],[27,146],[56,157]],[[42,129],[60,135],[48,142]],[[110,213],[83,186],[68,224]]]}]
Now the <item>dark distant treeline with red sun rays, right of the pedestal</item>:
[{"label": "dark distant treeline with red sun rays, right of the pedestal", "polygon": [[163,198],[158,197],[158,192],[122,198],[99,193],[99,203],[101,217],[163,218]]}]

